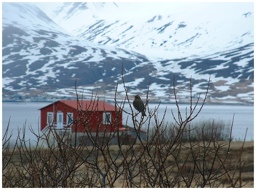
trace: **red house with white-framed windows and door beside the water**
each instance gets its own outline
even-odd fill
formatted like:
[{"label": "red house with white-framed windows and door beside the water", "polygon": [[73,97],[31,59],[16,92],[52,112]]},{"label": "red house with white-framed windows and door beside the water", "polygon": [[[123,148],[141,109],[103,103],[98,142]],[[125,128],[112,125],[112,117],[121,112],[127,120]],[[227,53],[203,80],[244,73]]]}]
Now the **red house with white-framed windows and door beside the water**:
[{"label": "red house with white-framed windows and door beside the water", "polygon": [[122,128],[122,111],[105,101],[59,100],[40,109],[41,131],[55,129],[84,132],[113,132]]}]

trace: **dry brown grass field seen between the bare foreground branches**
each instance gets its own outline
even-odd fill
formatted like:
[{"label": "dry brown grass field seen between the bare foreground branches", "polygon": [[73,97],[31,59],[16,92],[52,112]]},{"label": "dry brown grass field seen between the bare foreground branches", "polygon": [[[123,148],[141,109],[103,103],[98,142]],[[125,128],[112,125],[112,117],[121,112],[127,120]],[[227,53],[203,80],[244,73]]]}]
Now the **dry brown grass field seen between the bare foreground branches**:
[{"label": "dry brown grass field seen between the bare foreground branches", "polygon": [[[219,143],[227,144],[226,142],[219,142]],[[226,187],[225,184],[228,184],[229,179],[230,179],[228,177],[228,175],[235,175],[235,178],[236,178],[236,175],[241,175],[241,178],[239,178],[237,183],[238,184],[240,183],[241,185],[244,185],[243,187],[245,187],[245,188],[253,188],[253,186],[254,186],[254,182],[253,182],[253,180],[254,180],[254,178],[253,178],[253,165],[254,165],[253,164],[253,162],[254,162],[253,147],[254,147],[254,145],[253,144],[254,144],[253,141],[249,141],[249,142],[244,143],[243,152],[242,152],[242,155],[241,155],[241,160],[244,160],[244,165],[243,165],[242,172],[236,171],[234,173],[233,171],[231,171],[228,174],[225,174],[221,178],[222,184],[224,184],[224,186],[220,185],[220,187]],[[231,154],[232,160],[233,160],[231,162],[231,166],[235,165],[239,161],[238,159],[239,159],[239,155],[241,154],[242,145],[243,145],[243,142],[231,142],[230,154]],[[189,145],[187,145],[187,146],[189,146]],[[190,158],[190,155],[188,155],[188,152],[187,152],[188,150],[185,147],[186,147],[186,144],[184,144],[184,146],[180,150],[180,153],[179,153],[180,156],[179,156],[178,162],[180,164],[182,164],[183,163],[183,158],[186,158],[186,156],[188,156],[186,168],[189,168],[189,167],[193,168],[193,160],[192,160],[192,158]],[[125,148],[126,148],[126,146],[122,146],[122,149],[123,149],[124,152],[125,152]],[[118,149],[119,149],[118,146],[113,145],[113,146],[109,147],[109,152],[110,152],[111,155],[117,155],[118,154]],[[223,146],[221,148],[221,151],[225,152],[226,149],[227,149],[227,146]],[[90,147],[88,147],[88,150],[90,151]],[[86,157],[88,155],[88,150],[82,152],[81,155]],[[138,152],[141,151],[140,146],[139,145],[134,145],[134,150],[137,150]],[[31,151],[32,155],[36,155],[35,151],[33,151],[33,150],[30,150],[30,151]],[[48,154],[49,155],[51,154],[48,149],[41,150],[41,151],[43,151],[44,155],[46,155],[46,156]],[[175,154],[175,152],[173,154]],[[21,163],[21,161],[20,161],[21,160],[20,159],[20,151],[17,151],[17,150],[13,151],[13,156],[12,156],[13,163],[15,163],[16,165],[19,165],[19,166],[26,165],[26,167],[23,168],[24,171],[19,171],[19,172],[17,172],[17,171],[20,170],[20,168],[22,168],[22,167],[9,167],[9,168],[7,167],[7,168],[4,168],[4,170],[3,170],[3,185],[2,185],[3,188],[6,187],[6,185],[9,183],[8,180],[11,180],[10,178],[12,178],[13,180],[17,180],[18,178],[20,178],[18,176],[18,174],[20,174],[20,173],[23,173],[27,177],[26,180],[28,180],[28,179],[32,180],[32,178],[30,176],[31,173],[25,171],[25,170],[28,170],[28,168],[31,167],[31,166],[28,166],[28,165],[30,165],[30,163],[29,163],[30,161],[27,160],[28,162],[26,162],[26,158],[25,158],[26,156],[23,155],[23,157],[24,158],[22,159],[22,163]],[[214,159],[213,157],[214,157],[214,155],[212,157],[211,156],[208,157],[208,159]],[[88,160],[90,160],[90,159],[93,159],[93,158],[90,158],[90,156],[89,156]],[[126,159],[129,160],[130,157],[128,156]],[[3,160],[3,162],[4,161],[5,160]],[[101,165],[105,165],[106,164],[105,162],[106,162],[106,159],[104,159],[103,157],[98,158],[99,167]],[[115,160],[115,164],[117,164],[117,165],[119,163],[122,163],[122,162],[123,162],[123,157],[122,156],[119,156],[119,159]],[[174,163],[174,162],[176,162],[176,160],[173,159],[173,156],[168,156],[168,158],[166,159],[167,165],[169,163],[168,167],[173,167],[172,163]],[[97,178],[97,177],[95,177],[95,170],[93,168],[88,169],[87,166],[88,166],[88,164],[85,163],[85,164],[80,165],[79,168],[77,168],[76,174],[75,174],[76,175],[76,178],[75,178],[76,180],[73,181],[73,183],[79,183],[79,180],[81,180],[81,178],[83,178],[83,175],[85,175],[85,174],[87,175],[87,177],[91,176],[91,178],[93,180],[97,180],[97,179],[95,179],[95,178]],[[41,167],[41,166],[38,166],[38,165],[37,166],[35,165],[34,167],[35,168],[36,167],[43,168],[43,166]],[[215,167],[218,167],[217,163],[216,163],[216,165],[213,165],[213,168],[215,168]],[[13,171],[10,171],[10,169],[12,169]],[[45,168],[45,169],[47,169],[47,168]],[[52,168],[52,170],[54,170],[54,168]],[[151,169],[151,170],[153,170],[153,169]],[[178,169],[174,168],[174,170],[172,170],[172,171],[176,171],[176,170],[178,171]],[[236,169],[236,170],[239,170],[239,168]],[[86,172],[84,172],[84,171],[86,171]],[[54,173],[56,171],[52,171],[52,172]],[[136,172],[139,172],[139,167],[136,167],[135,170],[133,171],[133,173],[136,173]],[[8,173],[8,175],[4,175],[6,173]],[[224,171],[223,171],[223,173],[224,173]],[[15,176],[15,175],[17,175],[17,176]],[[35,177],[36,179],[39,179],[38,170],[33,169],[32,175],[34,175],[34,177],[36,176]],[[170,175],[170,178],[172,178],[171,175]],[[199,174],[197,172],[195,172],[195,174],[194,174],[195,178],[198,175]],[[218,175],[222,175],[222,172],[218,173]],[[146,174],[144,174],[144,176],[146,176]],[[139,185],[139,187],[141,187],[141,188],[148,187],[147,184],[143,184],[144,180],[141,179],[142,177],[143,177],[143,175],[135,176],[133,178],[134,183],[135,184],[141,183]],[[173,177],[174,177],[174,175],[173,175]],[[22,179],[20,179],[20,180],[22,180]],[[98,180],[100,180],[100,179],[98,179]],[[221,182],[221,181],[216,181],[216,183],[219,183],[219,182]],[[70,184],[70,182],[68,182],[68,179],[67,179],[67,183]],[[159,183],[161,183],[161,182],[159,182]],[[193,183],[194,183],[194,181],[193,181]],[[24,184],[25,184],[24,187],[31,186],[31,185],[29,185],[31,183],[24,183]],[[17,186],[19,186],[19,185],[17,185]],[[37,182],[35,180],[35,187],[36,186],[37,186]],[[113,184],[113,187],[115,187],[115,188],[123,188],[123,187],[127,187],[127,186],[128,186],[127,178],[124,178],[123,176],[120,176],[120,178],[118,178],[115,181],[115,183]],[[191,186],[193,186],[193,184]],[[107,185],[107,187],[108,187],[108,185]],[[180,187],[180,188],[186,187],[186,184],[185,183],[179,183],[179,184],[176,185],[176,187]],[[206,185],[205,187],[208,187],[208,186]]]}]

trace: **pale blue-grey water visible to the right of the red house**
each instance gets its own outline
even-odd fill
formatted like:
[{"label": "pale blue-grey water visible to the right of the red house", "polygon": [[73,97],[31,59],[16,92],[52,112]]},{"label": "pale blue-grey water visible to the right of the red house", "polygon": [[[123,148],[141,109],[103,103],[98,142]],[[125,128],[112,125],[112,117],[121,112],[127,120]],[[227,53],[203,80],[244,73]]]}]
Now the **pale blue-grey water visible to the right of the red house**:
[{"label": "pale blue-grey water visible to the right of the red house", "polygon": [[[158,104],[149,104],[148,108],[149,110],[154,111],[154,109],[158,106]],[[127,107],[131,112],[131,108]],[[196,109],[194,111],[195,116],[199,109],[201,108],[201,105],[197,105]],[[192,105],[193,109],[193,105]],[[161,121],[163,118],[163,114],[166,110],[165,115],[165,121],[170,123],[175,123],[175,120],[173,119],[173,115],[178,121],[178,109],[175,104],[160,104],[158,108],[158,119]],[[187,114],[190,112],[190,105],[188,104],[179,104],[179,110],[181,112],[181,117],[186,118],[186,111]],[[172,115],[173,111],[173,115]],[[146,112],[147,113],[147,112]],[[123,114],[123,118],[127,118],[128,114]],[[126,117],[125,117],[126,116]],[[140,116],[140,114],[139,114]],[[234,119],[233,119],[234,116]],[[208,120],[211,119],[211,121],[224,121],[230,124],[230,127],[232,125],[233,120],[233,129],[232,129],[232,137],[233,140],[236,141],[243,141],[245,134],[246,134],[246,128],[247,134],[246,134],[246,141],[253,141],[253,106],[248,105],[213,105],[213,104],[206,104],[203,106],[201,112],[198,114],[195,120]],[[128,116],[128,124],[131,124],[132,126],[132,120],[131,116]]]}]

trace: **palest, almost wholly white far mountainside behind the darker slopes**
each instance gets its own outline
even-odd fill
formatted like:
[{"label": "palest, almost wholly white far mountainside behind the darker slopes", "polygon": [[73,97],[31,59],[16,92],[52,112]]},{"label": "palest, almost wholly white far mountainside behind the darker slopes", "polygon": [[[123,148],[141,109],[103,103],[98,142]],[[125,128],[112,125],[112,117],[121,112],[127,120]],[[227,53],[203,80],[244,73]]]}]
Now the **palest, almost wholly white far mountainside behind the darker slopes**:
[{"label": "palest, almost wholly white far mountainside behind the darker slopes", "polygon": [[83,39],[164,59],[200,57],[253,42],[252,3],[183,3],[177,10],[175,5],[63,3],[49,14]]}]

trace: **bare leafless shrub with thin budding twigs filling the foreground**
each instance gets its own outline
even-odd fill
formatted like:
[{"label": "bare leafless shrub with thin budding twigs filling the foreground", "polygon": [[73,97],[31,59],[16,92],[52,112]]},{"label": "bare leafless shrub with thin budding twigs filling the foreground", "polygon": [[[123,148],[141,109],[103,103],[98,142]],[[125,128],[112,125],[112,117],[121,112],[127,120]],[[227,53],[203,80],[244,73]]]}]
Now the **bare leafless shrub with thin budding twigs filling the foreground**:
[{"label": "bare leafless shrub with thin budding twigs filling the foreground", "polygon": [[[103,132],[100,131],[100,121],[92,121],[91,115],[84,114],[88,110],[84,110],[82,106],[83,94],[82,99],[79,99],[77,92],[79,117],[75,118],[73,123],[75,126],[82,123],[85,128],[84,133],[70,134],[65,128],[60,132],[54,125],[50,125],[44,133],[36,133],[30,127],[30,131],[38,139],[36,145],[30,146],[30,141],[25,139],[23,133],[24,135],[18,136],[12,149],[6,132],[2,139],[2,186],[5,188],[216,188],[245,185],[241,181],[245,162],[242,159],[243,146],[239,154],[233,154],[230,150],[232,126],[228,141],[221,143],[219,141],[222,139],[219,138],[216,130],[220,128],[219,123],[197,128],[195,125],[199,126],[199,124],[191,123],[203,109],[210,79],[201,106],[198,104],[200,97],[195,103],[192,100],[191,79],[191,104],[184,118],[179,110],[175,82],[173,89],[178,117],[174,116],[173,111],[172,113],[165,111],[163,118],[158,118],[159,106],[154,110],[148,109],[148,94],[147,117],[133,111],[128,96],[129,87],[125,86],[124,81],[123,78],[126,96],[120,103],[117,102],[118,84],[116,87],[115,114],[118,116],[123,111],[132,118],[131,127],[136,132],[136,140],[127,142],[120,138],[118,127],[112,132],[107,128]],[[96,104],[97,107],[98,96],[92,95],[91,100],[91,103]],[[125,104],[129,105],[129,110],[124,110]],[[197,107],[199,107],[198,111],[196,111]],[[166,115],[173,116],[175,120],[173,127],[169,127],[164,122]],[[96,131],[90,130],[91,122],[97,124]],[[111,128],[118,122],[123,122],[123,125],[127,126],[127,120],[123,118],[123,121],[116,119],[110,123]],[[25,127],[23,130],[25,131]],[[141,130],[147,131],[146,141],[141,138]],[[198,138],[195,137],[194,131],[198,134]],[[42,141],[46,142],[47,146],[41,143]]]}]

